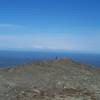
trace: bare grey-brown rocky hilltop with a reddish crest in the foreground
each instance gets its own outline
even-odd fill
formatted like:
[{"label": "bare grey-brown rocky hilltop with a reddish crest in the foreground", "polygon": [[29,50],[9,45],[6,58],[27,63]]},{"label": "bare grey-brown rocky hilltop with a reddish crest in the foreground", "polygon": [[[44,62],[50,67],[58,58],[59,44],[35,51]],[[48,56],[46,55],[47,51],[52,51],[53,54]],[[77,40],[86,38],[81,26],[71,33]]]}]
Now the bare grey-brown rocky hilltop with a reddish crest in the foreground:
[{"label": "bare grey-brown rocky hilltop with a reddish crest in the foreground", "polygon": [[1,69],[0,100],[100,100],[100,69],[67,58]]}]

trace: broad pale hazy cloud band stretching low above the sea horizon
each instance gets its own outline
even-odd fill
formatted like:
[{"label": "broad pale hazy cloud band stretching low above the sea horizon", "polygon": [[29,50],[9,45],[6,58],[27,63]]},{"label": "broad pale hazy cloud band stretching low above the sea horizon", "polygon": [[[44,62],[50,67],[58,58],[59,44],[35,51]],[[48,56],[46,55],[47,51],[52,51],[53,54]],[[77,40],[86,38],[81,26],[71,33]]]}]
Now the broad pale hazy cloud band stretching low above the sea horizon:
[{"label": "broad pale hazy cloud band stretching low above the sea horizon", "polygon": [[21,48],[36,50],[77,50],[100,52],[100,35],[40,37],[35,35],[0,35],[0,48]]}]

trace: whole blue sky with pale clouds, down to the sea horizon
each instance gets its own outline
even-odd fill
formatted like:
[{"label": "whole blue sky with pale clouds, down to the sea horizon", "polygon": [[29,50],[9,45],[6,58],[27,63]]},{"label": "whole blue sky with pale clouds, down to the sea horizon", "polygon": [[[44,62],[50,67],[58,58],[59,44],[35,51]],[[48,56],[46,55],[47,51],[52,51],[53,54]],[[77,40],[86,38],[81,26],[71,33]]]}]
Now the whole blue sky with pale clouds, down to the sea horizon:
[{"label": "whole blue sky with pale clouds, down to the sea horizon", "polygon": [[100,53],[100,0],[0,0],[0,50]]}]

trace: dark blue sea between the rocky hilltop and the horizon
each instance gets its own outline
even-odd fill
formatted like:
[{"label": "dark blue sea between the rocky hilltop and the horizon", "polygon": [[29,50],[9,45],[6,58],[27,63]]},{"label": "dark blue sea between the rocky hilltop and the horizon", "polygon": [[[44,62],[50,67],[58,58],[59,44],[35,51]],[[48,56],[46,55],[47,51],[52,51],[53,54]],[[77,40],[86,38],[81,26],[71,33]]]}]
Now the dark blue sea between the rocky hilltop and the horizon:
[{"label": "dark blue sea between the rocky hilltop and the horizon", "polygon": [[81,54],[71,52],[26,52],[0,51],[0,67],[28,63],[33,60],[68,57],[85,64],[100,66],[100,54]]}]

